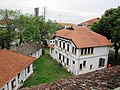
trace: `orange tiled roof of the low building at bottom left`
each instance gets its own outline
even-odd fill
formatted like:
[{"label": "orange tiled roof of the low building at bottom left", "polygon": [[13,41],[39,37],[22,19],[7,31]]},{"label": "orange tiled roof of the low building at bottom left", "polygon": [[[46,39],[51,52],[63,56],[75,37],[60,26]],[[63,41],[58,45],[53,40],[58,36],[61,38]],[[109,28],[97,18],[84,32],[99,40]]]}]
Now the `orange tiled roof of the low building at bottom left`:
[{"label": "orange tiled roof of the low building at bottom left", "polygon": [[35,58],[30,56],[0,50],[0,88],[34,61]]}]

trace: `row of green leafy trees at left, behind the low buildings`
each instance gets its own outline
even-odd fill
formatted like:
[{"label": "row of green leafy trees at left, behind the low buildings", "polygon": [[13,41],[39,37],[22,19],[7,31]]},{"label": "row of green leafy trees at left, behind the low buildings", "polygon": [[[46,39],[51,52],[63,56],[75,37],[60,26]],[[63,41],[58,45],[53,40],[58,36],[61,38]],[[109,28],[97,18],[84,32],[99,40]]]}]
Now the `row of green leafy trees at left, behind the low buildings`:
[{"label": "row of green leafy trees at left, behind the low buildings", "polygon": [[22,14],[21,11],[0,10],[0,46],[9,49],[11,43],[43,42],[57,29],[63,28],[40,16]]}]

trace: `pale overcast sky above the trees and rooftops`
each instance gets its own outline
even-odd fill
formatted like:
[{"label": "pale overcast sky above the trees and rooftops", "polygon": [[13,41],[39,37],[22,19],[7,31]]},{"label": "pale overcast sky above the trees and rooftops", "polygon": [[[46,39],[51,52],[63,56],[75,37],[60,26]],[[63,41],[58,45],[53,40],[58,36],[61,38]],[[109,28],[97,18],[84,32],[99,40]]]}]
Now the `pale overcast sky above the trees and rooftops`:
[{"label": "pale overcast sky above the trees and rooftops", "polygon": [[0,9],[34,14],[34,8],[39,7],[42,15],[43,7],[46,7],[47,19],[75,24],[101,17],[105,10],[118,6],[120,0],[0,0]]}]

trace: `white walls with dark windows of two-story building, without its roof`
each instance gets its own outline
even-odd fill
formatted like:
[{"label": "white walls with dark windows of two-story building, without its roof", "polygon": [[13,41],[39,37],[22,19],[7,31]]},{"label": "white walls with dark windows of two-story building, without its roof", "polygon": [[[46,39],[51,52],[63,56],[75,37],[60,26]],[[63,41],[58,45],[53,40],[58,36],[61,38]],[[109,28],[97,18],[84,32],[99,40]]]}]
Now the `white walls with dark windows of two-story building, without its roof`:
[{"label": "white walls with dark windows of two-story building, without its roof", "polygon": [[73,40],[55,36],[50,55],[67,71],[79,75],[107,67],[109,46],[78,48]]}]

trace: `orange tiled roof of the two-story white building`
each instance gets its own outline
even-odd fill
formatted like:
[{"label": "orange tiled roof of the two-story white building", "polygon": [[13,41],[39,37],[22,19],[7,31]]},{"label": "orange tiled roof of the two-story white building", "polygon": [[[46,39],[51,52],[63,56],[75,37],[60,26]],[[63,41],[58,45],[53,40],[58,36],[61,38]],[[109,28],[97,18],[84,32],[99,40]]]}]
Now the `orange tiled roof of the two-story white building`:
[{"label": "orange tiled roof of the two-story white building", "polygon": [[87,27],[76,26],[73,27],[73,29],[74,30],[59,30],[54,34],[54,36],[72,40],[77,48],[112,45],[106,37],[91,31]]}]

